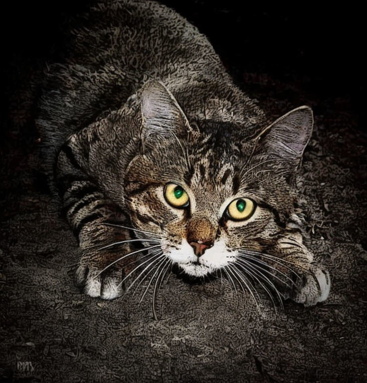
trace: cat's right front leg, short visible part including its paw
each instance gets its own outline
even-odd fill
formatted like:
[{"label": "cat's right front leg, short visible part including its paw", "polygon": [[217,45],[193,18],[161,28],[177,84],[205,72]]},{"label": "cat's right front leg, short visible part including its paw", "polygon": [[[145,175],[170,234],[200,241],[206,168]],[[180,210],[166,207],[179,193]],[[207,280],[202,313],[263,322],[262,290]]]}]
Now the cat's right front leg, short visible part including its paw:
[{"label": "cat's right front leg, short visible part including its paw", "polygon": [[284,297],[312,306],[328,298],[331,281],[327,269],[314,262],[313,253],[302,242],[299,232],[285,233],[273,248],[280,258],[273,266],[294,281]]}]

